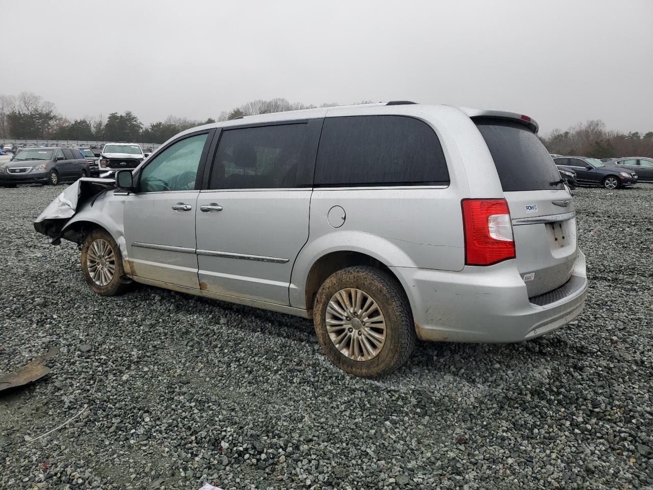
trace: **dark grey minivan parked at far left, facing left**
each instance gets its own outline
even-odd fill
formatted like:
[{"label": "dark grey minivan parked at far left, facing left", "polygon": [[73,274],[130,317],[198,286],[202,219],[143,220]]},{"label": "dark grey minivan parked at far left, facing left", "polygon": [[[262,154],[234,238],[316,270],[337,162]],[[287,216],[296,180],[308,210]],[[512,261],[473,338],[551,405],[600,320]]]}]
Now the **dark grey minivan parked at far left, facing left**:
[{"label": "dark grey minivan parked at far left, facing left", "polygon": [[86,158],[75,148],[23,148],[0,165],[0,186],[50,184],[77,180],[91,174]]}]

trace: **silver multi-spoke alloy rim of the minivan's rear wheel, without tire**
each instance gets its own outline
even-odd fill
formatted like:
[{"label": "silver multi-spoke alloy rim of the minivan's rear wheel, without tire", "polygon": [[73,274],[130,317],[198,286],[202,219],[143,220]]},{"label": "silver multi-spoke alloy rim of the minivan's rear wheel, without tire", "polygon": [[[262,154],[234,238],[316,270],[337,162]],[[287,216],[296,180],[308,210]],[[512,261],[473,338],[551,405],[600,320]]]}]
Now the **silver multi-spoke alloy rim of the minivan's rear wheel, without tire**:
[{"label": "silver multi-spoke alloy rim of the minivan's rear wheel, without tire", "polygon": [[343,355],[369,361],[381,352],[387,328],[377,302],[364,291],[348,287],[328,302],[327,332]]}]

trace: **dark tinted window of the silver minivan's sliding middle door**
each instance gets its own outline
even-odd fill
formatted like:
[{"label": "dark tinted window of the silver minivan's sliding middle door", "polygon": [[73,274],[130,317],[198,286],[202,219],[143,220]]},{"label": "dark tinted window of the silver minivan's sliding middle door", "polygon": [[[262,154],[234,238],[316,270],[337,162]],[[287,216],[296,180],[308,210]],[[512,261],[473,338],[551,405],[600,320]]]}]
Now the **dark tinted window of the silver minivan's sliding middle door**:
[{"label": "dark tinted window of the silver minivan's sliding middle door", "polygon": [[295,188],[308,163],[307,124],[277,124],[223,131],[210,189]]}]

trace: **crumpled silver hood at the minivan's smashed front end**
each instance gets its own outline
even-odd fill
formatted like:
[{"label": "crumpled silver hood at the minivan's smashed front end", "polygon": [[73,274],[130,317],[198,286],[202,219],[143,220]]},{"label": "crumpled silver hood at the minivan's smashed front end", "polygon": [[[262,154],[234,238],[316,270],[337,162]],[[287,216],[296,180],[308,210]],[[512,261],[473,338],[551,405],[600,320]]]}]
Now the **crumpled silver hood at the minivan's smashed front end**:
[{"label": "crumpled silver hood at the minivan's smashed front end", "polygon": [[34,229],[48,237],[59,238],[61,230],[78,207],[101,191],[114,188],[114,184],[112,178],[80,178],[48,204],[34,221]]}]

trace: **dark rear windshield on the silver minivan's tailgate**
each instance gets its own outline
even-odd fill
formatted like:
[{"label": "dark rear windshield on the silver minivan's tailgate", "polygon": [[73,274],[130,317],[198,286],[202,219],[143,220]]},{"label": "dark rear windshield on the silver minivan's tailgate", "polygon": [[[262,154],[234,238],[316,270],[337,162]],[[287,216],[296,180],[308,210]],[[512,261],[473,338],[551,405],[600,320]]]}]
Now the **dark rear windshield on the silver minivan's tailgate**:
[{"label": "dark rear windshield on the silver minivan's tailgate", "polygon": [[503,191],[564,189],[547,148],[528,127],[487,118],[474,122],[492,154]]}]

